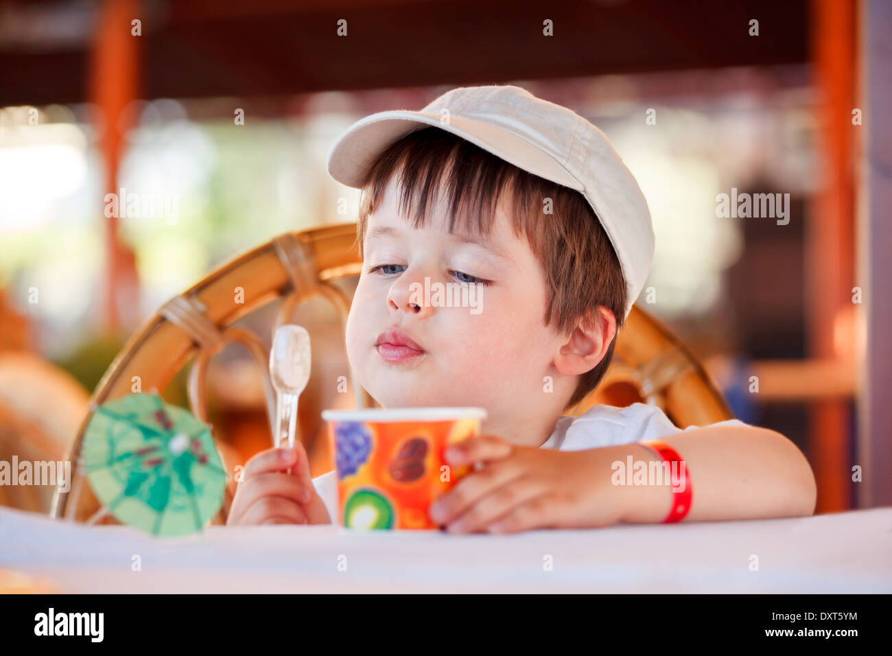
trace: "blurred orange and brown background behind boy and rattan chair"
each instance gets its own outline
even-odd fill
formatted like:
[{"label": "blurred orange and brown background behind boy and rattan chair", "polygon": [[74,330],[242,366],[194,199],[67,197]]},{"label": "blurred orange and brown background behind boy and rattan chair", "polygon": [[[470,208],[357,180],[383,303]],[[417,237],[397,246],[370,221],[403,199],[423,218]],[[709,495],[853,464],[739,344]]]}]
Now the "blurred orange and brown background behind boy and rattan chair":
[{"label": "blurred orange and brown background behind boy and rattan chair", "polygon": [[[890,28],[871,0],[0,0],[0,459],[64,458],[128,338],[209,271],[355,220],[359,192],[326,172],[353,121],[515,84],[612,140],[657,235],[640,306],[739,419],[805,452],[818,511],[888,505]],[[718,217],[732,189],[789,195],[789,222]],[[110,193],[156,204],[107,216]],[[276,305],[238,324],[268,346]],[[315,476],[348,365],[327,303],[293,321],[320,335]],[[207,394],[232,462],[268,446],[247,350],[214,357]]]}]

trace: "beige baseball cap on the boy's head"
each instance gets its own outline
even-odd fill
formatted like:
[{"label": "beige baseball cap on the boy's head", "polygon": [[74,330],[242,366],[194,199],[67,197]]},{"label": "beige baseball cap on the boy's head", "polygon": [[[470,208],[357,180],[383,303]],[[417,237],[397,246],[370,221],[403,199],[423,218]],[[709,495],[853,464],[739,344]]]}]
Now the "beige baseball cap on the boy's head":
[{"label": "beige baseball cap on the boy's head", "polygon": [[629,316],[653,260],[654,230],[638,182],[603,132],[522,87],[457,87],[418,112],[378,112],[356,121],[328,155],[328,172],[347,187],[360,188],[378,155],[426,126],[447,130],[520,169],[581,192],[623,269]]}]

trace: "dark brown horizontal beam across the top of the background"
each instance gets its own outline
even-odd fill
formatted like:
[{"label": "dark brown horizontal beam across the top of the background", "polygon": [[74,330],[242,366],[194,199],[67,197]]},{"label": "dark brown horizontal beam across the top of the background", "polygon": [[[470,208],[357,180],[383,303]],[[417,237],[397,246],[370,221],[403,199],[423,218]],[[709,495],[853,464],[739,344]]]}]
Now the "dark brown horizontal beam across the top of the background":
[{"label": "dark brown horizontal beam across the top of the background", "polygon": [[[541,0],[206,0],[165,3],[163,10],[144,12],[140,97],[145,99],[458,86],[808,61],[807,0],[553,0],[544,5]],[[754,18],[760,21],[758,37],[748,34]],[[347,21],[346,37],[336,34],[341,19]],[[552,37],[542,34],[546,19],[553,21]],[[85,100],[83,52],[52,50],[36,41],[22,51],[0,40],[0,105]]]}]

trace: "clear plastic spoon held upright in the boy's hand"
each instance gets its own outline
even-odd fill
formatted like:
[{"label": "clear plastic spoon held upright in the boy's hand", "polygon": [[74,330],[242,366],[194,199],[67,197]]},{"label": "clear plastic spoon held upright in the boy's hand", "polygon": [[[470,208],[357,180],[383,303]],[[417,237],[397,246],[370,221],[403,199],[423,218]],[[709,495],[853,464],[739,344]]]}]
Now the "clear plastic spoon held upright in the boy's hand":
[{"label": "clear plastic spoon held upright in the boy's hand", "polygon": [[278,448],[287,436],[291,448],[297,428],[297,398],[310,380],[310,333],[306,328],[293,324],[277,328],[269,349],[269,378],[276,388],[274,442]]}]

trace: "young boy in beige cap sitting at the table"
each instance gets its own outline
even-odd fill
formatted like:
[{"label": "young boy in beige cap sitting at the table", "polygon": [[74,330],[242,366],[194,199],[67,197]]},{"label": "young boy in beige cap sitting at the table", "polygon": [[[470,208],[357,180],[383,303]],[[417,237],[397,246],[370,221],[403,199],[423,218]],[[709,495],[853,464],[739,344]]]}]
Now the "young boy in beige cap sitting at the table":
[{"label": "young boy in beige cap sitting at the table", "polygon": [[[731,419],[682,431],[642,403],[562,415],[607,370],[654,249],[635,179],[589,121],[520,87],[459,87],[421,112],[359,120],[328,170],[363,190],[346,330],[359,384],[385,408],[488,413],[483,435],[446,453],[476,467],[432,505],[438,525],[500,533],[814,512],[812,469],[771,430]],[[430,302],[425,285],[465,287],[477,303]],[[672,486],[616,475],[617,463],[664,460]],[[328,523],[336,512],[335,473],[311,480],[295,445],[247,463],[228,523]]]}]

